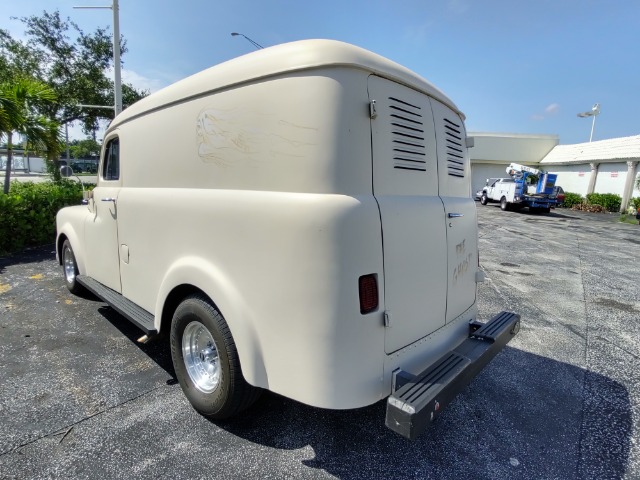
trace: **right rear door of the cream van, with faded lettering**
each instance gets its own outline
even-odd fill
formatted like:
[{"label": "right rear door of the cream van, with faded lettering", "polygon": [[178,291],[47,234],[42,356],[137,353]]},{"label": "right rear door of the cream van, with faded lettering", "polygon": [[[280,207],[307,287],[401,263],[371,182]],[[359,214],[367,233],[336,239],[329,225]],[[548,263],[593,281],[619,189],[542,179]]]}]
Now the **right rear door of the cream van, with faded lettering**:
[{"label": "right rear door of the cream van, with faded lettering", "polygon": [[431,99],[438,150],[438,181],[447,236],[447,322],[476,301],[478,220],[471,198],[471,167],[460,116]]}]

